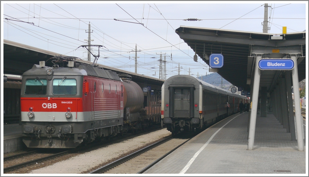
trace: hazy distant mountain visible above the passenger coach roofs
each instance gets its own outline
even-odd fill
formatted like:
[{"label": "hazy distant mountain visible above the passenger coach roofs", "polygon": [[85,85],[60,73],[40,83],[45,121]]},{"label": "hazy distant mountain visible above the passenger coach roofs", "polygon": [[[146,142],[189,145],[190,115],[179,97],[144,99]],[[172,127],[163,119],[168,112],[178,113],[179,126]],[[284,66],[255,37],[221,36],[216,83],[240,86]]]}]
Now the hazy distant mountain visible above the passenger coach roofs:
[{"label": "hazy distant mountain visible above the passenger coach roofs", "polygon": [[[200,77],[197,77],[198,79],[201,79],[209,84],[212,84],[216,87],[219,87],[221,88],[221,76],[216,73],[216,72],[213,72],[211,74],[207,74],[205,76],[200,76]],[[202,79],[203,78],[203,79]],[[232,84],[229,83],[227,80],[225,80],[224,78],[222,78],[222,89],[224,90],[230,90],[230,86]]]}]

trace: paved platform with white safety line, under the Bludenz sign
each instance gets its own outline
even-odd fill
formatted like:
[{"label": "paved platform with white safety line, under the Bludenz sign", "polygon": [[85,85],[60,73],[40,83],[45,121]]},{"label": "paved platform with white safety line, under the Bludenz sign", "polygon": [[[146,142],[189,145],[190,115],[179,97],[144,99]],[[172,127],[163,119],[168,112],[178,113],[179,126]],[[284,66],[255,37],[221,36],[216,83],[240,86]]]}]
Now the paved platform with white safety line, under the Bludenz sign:
[{"label": "paved platform with white safety line, under the Bludenz sign", "polygon": [[238,113],[207,128],[144,174],[306,174],[306,150],[298,151],[297,141],[291,141],[291,133],[273,114],[259,115],[253,150],[247,150],[248,112]]}]

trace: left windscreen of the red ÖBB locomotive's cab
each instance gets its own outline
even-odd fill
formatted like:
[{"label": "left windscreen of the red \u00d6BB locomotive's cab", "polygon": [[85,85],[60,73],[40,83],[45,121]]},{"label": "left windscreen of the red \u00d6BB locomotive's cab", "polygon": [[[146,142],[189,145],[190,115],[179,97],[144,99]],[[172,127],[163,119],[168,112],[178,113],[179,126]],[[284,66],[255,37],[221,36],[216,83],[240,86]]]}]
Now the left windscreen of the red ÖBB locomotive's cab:
[{"label": "left windscreen of the red \u00d6BB locomotive's cab", "polygon": [[25,84],[25,94],[27,95],[45,95],[47,89],[47,79],[27,79]]}]

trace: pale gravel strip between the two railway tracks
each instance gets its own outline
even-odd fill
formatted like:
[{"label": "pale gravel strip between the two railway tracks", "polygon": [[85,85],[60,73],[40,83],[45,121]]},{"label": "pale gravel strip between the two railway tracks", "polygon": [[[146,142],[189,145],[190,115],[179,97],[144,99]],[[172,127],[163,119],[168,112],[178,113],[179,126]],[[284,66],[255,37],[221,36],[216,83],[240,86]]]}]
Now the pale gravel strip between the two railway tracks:
[{"label": "pale gravel strip between the two railway tracks", "polygon": [[150,132],[134,138],[112,143],[91,152],[79,154],[53,165],[31,171],[31,174],[78,174],[95,170],[95,167],[110,163],[112,160],[125,156],[129,152],[145,147],[155,141],[171,135],[166,128]]}]

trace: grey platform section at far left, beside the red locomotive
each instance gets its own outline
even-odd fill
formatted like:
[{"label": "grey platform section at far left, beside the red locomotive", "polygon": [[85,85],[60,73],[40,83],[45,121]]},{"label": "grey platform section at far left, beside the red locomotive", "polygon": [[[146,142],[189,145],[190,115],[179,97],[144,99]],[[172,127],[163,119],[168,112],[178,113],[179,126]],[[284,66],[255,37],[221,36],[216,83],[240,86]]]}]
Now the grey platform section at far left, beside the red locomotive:
[{"label": "grey platform section at far left, beside the red locomotive", "polygon": [[21,125],[19,123],[3,125],[3,153],[14,152],[26,148],[23,143]]}]

